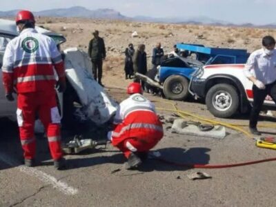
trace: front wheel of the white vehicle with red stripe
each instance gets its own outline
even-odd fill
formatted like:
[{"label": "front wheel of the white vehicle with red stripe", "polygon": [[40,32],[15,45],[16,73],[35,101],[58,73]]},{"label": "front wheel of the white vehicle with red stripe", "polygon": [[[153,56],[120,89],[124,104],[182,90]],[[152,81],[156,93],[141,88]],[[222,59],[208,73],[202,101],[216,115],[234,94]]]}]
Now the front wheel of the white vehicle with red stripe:
[{"label": "front wheel of the white vehicle with red stripe", "polygon": [[206,106],[215,117],[232,117],[239,107],[236,88],[225,83],[213,86],[207,92]]}]

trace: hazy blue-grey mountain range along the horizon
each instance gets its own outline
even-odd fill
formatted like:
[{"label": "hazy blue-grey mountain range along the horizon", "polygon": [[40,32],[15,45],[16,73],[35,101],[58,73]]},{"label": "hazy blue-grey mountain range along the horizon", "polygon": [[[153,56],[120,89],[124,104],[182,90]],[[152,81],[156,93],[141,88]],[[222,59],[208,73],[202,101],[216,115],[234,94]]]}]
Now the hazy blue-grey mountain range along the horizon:
[{"label": "hazy blue-grey mountain range along the horizon", "polygon": [[[0,17],[14,17],[19,10],[10,10],[6,12],[0,11]],[[210,25],[210,26],[233,26],[233,27],[258,27],[258,28],[276,28],[276,23],[271,23],[262,26],[256,26],[252,23],[235,24],[227,21],[219,21],[209,17],[126,17],[120,12],[112,9],[97,9],[88,10],[81,6],[74,6],[71,8],[59,8],[52,10],[43,10],[34,12],[35,16],[41,17],[81,17],[90,19],[119,19],[128,21],[144,21],[144,22],[160,22],[160,23],[184,23],[184,24],[197,24],[197,25]]]}]

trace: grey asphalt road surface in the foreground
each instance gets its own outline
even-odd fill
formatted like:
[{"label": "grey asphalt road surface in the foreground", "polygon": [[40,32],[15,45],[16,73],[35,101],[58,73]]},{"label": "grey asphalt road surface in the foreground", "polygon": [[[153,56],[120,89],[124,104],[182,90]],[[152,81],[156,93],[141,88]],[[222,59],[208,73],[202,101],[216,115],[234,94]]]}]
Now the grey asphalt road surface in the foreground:
[{"label": "grey asphalt road surface in the foreground", "polygon": [[[159,97],[150,99],[162,101]],[[177,102],[177,106],[214,119],[201,103]],[[230,121],[247,123],[246,117]],[[16,124],[1,119],[0,126],[0,206],[275,206],[275,161],[208,170],[149,159],[139,170],[128,171],[123,168],[123,155],[107,146],[67,155],[68,168],[57,171],[46,139],[38,136],[37,159],[41,164],[26,168]],[[168,128],[164,139],[152,152],[158,151],[170,161],[230,164],[276,157],[274,150],[257,148],[253,140],[234,130],[227,129],[226,137],[218,140],[172,134],[169,126],[164,125]],[[262,130],[268,135],[276,132],[275,128]],[[67,135],[63,138],[70,139]],[[212,178],[188,179],[193,172],[207,172]]]}]

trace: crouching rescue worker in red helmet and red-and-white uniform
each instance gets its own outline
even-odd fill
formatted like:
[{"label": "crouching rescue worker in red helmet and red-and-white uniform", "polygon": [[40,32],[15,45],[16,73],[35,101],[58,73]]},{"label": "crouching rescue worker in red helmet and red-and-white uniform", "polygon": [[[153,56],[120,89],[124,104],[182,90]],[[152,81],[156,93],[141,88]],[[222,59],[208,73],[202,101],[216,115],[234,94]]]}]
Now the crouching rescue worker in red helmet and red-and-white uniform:
[{"label": "crouching rescue worker in red helmet and red-and-white uniform", "polygon": [[124,152],[126,169],[137,168],[148,151],[163,137],[155,105],[142,95],[139,83],[130,83],[130,97],[122,101],[115,115],[115,129],[108,134],[112,145]]}]

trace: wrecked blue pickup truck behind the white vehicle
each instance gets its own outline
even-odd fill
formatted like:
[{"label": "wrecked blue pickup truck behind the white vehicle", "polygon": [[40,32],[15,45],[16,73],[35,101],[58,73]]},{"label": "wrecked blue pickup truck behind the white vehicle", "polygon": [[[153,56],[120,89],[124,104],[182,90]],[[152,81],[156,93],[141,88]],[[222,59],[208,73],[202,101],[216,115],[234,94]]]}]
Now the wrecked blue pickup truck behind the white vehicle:
[{"label": "wrecked blue pickup truck behind the white vehicle", "polygon": [[[161,63],[157,77],[167,99],[185,100],[193,73],[206,65],[246,63],[247,50],[229,48],[208,48],[203,45],[177,43],[185,57],[172,57]],[[156,84],[155,84],[156,86]]]}]

